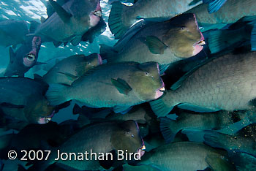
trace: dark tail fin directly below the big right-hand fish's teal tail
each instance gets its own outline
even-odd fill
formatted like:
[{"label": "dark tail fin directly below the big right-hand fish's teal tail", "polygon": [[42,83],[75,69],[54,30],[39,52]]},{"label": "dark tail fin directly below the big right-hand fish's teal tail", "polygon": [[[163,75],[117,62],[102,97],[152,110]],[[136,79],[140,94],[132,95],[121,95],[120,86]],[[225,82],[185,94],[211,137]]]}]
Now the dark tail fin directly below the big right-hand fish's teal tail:
[{"label": "dark tail fin directly below the big right-hand fish's teal tail", "polygon": [[160,130],[162,136],[165,138],[165,142],[170,143],[174,140],[174,137],[177,134],[175,130],[176,121],[171,120],[170,118],[160,118]]}]

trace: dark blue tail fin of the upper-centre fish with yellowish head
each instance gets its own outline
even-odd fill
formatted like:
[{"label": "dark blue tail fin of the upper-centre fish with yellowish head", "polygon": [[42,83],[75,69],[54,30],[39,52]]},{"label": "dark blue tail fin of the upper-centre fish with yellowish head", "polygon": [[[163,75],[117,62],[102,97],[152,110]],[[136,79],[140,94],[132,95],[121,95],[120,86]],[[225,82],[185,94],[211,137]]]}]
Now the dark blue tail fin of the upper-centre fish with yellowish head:
[{"label": "dark blue tail fin of the upper-centre fish with yellowish head", "polygon": [[113,47],[101,44],[100,56],[102,56],[102,59],[107,59],[108,63],[111,63],[115,61],[116,58],[118,58],[118,52],[116,52]]}]

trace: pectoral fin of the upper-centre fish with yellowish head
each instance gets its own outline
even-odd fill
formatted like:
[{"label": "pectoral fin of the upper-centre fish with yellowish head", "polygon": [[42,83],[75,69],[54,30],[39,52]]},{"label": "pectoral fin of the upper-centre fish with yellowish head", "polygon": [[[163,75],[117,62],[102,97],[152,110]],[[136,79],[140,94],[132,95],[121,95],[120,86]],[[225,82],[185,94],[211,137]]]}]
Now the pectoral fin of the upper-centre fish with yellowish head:
[{"label": "pectoral fin of the upper-centre fish with yellowish head", "polygon": [[146,37],[145,44],[148,46],[148,50],[154,54],[163,54],[167,48],[164,42],[154,36]]}]

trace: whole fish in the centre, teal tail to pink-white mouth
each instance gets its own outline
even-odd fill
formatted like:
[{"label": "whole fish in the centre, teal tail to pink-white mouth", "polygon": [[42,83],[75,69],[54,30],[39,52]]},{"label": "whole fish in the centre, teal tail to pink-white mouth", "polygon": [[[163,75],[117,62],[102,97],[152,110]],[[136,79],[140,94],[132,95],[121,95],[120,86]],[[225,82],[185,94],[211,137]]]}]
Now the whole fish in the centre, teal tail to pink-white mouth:
[{"label": "whole fish in the centre, teal tail to pink-white mouth", "polygon": [[97,66],[71,86],[50,85],[46,96],[51,104],[76,99],[88,107],[114,107],[118,113],[157,99],[163,89],[157,63],[125,62]]}]

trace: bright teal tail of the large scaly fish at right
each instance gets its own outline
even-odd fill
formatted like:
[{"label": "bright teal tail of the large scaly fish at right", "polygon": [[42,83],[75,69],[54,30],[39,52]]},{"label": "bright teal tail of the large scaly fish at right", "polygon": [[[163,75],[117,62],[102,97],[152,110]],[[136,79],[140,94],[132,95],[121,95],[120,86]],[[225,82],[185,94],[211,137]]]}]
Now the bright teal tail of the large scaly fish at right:
[{"label": "bright teal tail of the large scaly fish at right", "polygon": [[157,117],[165,117],[173,110],[173,107],[176,105],[172,102],[170,98],[170,91],[167,91],[164,95],[162,95],[159,99],[156,99],[150,102],[151,109],[157,115]]}]

